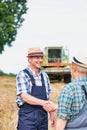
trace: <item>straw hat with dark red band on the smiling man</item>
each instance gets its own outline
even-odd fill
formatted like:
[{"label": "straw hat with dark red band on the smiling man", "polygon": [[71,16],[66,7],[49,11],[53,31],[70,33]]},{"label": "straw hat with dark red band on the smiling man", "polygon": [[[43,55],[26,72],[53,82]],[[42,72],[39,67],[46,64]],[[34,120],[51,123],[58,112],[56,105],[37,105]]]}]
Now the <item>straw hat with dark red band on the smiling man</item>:
[{"label": "straw hat with dark red band on the smiling man", "polygon": [[27,57],[43,56],[43,51],[40,48],[29,48]]}]

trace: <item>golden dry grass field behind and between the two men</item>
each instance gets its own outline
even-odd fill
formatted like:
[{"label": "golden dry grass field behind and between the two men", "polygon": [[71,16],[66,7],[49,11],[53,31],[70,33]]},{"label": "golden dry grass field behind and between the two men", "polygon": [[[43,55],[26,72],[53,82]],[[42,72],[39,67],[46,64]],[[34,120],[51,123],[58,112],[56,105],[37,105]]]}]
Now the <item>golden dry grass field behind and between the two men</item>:
[{"label": "golden dry grass field behind and between the two men", "polygon": [[[57,102],[58,95],[63,88],[64,83],[52,83],[51,99]],[[17,130],[17,112],[18,108],[15,103],[16,87],[14,77],[0,77],[0,130]],[[49,130],[51,122],[49,120]]]}]

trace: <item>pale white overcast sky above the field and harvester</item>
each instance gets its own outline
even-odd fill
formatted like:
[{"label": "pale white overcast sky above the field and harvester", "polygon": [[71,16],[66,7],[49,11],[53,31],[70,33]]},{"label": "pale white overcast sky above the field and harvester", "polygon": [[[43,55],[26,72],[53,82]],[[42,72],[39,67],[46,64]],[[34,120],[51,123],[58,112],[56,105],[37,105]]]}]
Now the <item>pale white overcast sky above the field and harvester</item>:
[{"label": "pale white overcast sky above the field and harvester", "polygon": [[0,55],[0,70],[18,73],[30,47],[63,46],[70,57],[87,46],[87,0],[28,0],[25,21],[12,47]]}]

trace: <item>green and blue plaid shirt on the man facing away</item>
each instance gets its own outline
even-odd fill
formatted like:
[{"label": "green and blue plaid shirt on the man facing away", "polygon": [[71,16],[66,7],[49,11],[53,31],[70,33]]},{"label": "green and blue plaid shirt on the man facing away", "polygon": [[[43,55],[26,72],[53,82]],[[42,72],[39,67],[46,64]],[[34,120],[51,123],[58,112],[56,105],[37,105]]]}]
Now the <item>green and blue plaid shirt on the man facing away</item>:
[{"label": "green and blue plaid shirt on the man facing away", "polygon": [[71,121],[80,112],[86,100],[82,85],[87,90],[87,76],[75,79],[64,87],[58,97],[58,118]]}]

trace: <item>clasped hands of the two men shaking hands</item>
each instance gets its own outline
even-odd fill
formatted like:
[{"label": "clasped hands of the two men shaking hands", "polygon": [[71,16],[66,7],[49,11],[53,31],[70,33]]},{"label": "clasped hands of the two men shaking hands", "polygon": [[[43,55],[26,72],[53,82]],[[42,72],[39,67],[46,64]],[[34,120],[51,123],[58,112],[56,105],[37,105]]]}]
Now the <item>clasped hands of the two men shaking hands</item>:
[{"label": "clasped hands of the two men shaking hands", "polygon": [[47,111],[47,112],[53,112],[56,111],[58,108],[58,104],[53,103],[52,101],[46,101],[43,105],[43,108]]}]

